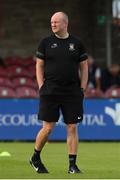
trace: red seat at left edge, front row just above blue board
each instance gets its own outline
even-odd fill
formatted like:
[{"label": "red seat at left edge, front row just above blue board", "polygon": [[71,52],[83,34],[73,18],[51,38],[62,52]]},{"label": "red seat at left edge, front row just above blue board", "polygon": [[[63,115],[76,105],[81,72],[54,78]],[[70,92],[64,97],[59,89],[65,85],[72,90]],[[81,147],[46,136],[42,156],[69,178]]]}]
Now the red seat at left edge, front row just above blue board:
[{"label": "red seat at left edge, front row just above blue board", "polygon": [[15,98],[16,93],[10,87],[0,86],[0,98]]}]

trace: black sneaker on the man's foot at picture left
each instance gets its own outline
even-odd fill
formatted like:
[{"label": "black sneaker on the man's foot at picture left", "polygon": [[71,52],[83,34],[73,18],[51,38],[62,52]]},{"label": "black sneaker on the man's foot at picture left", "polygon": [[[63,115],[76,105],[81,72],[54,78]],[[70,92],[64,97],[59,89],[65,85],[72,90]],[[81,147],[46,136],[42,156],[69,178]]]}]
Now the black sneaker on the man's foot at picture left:
[{"label": "black sneaker on the man's foot at picture left", "polygon": [[30,164],[35,169],[37,173],[49,173],[44,164],[40,160],[33,160],[33,158],[30,159]]}]

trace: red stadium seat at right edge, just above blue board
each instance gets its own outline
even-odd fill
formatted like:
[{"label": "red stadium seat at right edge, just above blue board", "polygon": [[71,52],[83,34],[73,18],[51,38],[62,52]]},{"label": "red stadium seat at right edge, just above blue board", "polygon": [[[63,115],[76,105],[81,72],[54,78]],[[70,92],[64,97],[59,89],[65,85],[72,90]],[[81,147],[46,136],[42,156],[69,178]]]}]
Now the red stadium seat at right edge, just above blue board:
[{"label": "red stadium seat at right edge, just above blue board", "polygon": [[120,98],[120,87],[110,88],[105,92],[106,98]]}]

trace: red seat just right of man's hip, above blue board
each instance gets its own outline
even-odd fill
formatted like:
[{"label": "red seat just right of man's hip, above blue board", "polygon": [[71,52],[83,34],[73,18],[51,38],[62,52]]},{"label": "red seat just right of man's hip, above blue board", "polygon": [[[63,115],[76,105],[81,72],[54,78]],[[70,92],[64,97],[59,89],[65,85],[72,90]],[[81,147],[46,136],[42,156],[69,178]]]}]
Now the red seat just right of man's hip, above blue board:
[{"label": "red seat just right of man's hip, above blue board", "polygon": [[104,98],[104,94],[101,90],[90,88],[90,89],[86,90],[85,97],[87,97],[87,98]]}]

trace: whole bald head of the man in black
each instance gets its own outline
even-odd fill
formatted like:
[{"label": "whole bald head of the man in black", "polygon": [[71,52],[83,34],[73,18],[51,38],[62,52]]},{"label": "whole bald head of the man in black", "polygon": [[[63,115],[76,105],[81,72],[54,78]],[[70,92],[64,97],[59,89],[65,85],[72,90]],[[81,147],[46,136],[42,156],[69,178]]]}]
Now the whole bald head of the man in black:
[{"label": "whole bald head of the man in black", "polygon": [[57,35],[67,34],[68,16],[64,12],[56,12],[51,17],[52,31]]}]

